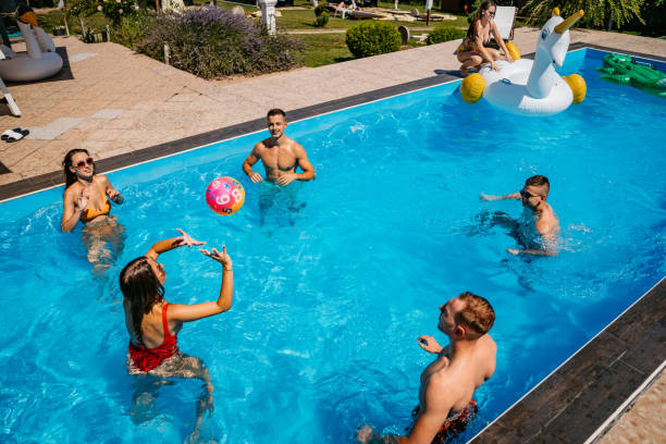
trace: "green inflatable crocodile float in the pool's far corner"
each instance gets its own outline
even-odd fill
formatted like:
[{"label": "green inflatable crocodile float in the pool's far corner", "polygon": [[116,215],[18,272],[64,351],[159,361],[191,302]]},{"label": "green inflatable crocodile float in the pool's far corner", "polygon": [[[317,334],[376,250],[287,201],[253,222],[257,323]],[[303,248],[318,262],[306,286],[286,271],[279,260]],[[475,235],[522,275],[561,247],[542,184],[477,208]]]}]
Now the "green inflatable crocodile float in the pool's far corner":
[{"label": "green inflatable crocodile float in the pool's far corner", "polygon": [[638,62],[630,55],[608,54],[604,66],[599,67],[601,78],[622,85],[631,85],[645,92],[666,98],[666,74],[649,63]]}]

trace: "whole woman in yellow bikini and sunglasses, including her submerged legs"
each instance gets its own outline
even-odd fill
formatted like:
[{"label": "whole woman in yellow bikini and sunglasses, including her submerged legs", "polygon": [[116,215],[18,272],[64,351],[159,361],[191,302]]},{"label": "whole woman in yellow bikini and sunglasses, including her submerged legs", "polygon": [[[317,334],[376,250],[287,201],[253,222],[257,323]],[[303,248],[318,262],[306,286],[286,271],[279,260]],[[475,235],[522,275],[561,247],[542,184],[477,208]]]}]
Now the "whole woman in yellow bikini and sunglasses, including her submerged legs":
[{"label": "whole woman in yellow bikini and sunglasses, including her submerged legs", "polygon": [[[120,205],[124,198],[106,175],[95,174],[95,161],[87,150],[70,150],[62,166],[65,190],[60,227],[70,233],[78,221],[85,224],[83,240],[88,248],[88,261],[95,267],[96,274],[103,273],[124,246],[125,230],[109,215],[109,199]],[[107,248],[107,244],[111,248]]]}]

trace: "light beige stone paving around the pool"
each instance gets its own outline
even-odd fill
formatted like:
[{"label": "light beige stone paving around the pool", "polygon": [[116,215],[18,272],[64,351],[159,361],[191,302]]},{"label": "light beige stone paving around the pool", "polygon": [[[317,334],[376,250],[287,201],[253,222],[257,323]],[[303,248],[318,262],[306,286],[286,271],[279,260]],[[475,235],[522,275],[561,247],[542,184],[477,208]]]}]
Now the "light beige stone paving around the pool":
[{"label": "light beige stone paving around the pool", "polygon": [[[516,29],[522,53],[534,51],[538,32]],[[666,58],[665,39],[585,29],[574,30],[571,42]],[[214,134],[259,128],[269,108],[299,110],[291,114],[298,119],[355,104],[359,97],[380,98],[445,82],[458,75],[459,65],[453,55],[458,42],[446,42],[317,69],[207,82],[114,44],[86,45],[70,37],[55,38],[55,45],[65,59],[61,74],[8,84],[23,115],[14,118],[0,104],[0,132],[30,130],[27,139],[0,141],[0,200],[60,184],[60,162],[71,148],[90,150],[109,170],[174,152],[177,144],[177,149],[183,144],[195,147]],[[215,133],[220,128],[226,130]],[[664,380],[664,374],[656,379],[603,442],[662,442]],[[656,406],[652,419],[641,399]],[[581,443],[585,440],[580,436]]]}]

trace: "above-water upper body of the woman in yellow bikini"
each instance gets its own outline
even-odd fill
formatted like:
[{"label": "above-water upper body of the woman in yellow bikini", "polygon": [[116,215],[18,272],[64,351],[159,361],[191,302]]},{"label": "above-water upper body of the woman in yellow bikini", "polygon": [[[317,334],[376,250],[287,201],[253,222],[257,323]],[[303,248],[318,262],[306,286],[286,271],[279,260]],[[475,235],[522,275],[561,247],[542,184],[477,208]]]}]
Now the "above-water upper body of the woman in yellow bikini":
[{"label": "above-water upper body of the woman in yellow bikini", "polygon": [[95,174],[95,161],[87,150],[70,150],[62,166],[65,190],[60,227],[63,232],[70,233],[79,220],[89,223],[106,219],[111,211],[109,198],[119,205],[124,201],[106,175]]}]

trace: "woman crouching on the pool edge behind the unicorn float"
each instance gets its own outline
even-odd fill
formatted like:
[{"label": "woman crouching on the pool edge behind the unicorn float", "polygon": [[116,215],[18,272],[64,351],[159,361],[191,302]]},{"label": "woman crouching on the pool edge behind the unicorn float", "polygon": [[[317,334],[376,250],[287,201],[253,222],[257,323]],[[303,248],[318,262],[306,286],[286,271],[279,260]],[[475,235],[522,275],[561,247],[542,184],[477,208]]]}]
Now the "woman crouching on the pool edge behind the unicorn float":
[{"label": "woman crouching on the pool edge behind the unicorn float", "polygon": [[495,16],[495,2],[485,0],[479,5],[477,14],[467,29],[467,37],[462,39],[462,44],[458,48],[458,61],[460,65],[460,75],[466,77],[469,74],[470,67],[480,67],[481,63],[490,62],[493,70],[497,70],[495,60],[499,60],[499,51],[495,48],[488,48],[491,37],[495,39],[502,51],[506,54],[506,60],[513,62],[514,59],[506,49],[504,39],[497,30],[497,26],[493,21]]}]

